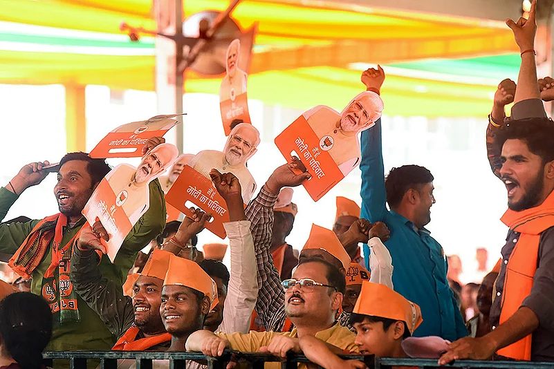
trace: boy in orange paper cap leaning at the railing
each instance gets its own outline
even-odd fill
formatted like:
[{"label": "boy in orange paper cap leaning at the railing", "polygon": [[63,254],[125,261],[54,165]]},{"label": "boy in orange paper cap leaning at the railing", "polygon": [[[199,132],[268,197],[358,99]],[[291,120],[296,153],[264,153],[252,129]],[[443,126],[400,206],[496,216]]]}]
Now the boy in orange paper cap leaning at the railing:
[{"label": "boy in orange paper cap leaning at the railing", "polygon": [[[377,357],[408,357],[403,340],[410,337],[423,321],[418,305],[389,287],[362,282],[360,297],[350,316],[356,328],[356,345],[361,354]],[[299,346],[313,363],[323,368],[344,368],[347,363],[333,354],[328,346],[311,336],[302,337]],[[363,363],[353,365],[365,368]]]}]

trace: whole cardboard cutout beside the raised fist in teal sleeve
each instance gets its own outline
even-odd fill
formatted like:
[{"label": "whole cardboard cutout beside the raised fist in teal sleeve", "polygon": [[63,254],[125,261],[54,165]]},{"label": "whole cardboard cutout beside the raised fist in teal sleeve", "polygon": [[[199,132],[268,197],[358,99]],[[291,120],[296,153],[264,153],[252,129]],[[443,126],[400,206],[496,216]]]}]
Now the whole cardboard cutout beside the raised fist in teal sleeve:
[{"label": "whole cardboard cutout beside the raised fist in teal sleeve", "polygon": [[375,124],[382,108],[379,95],[365,91],[354,97],[342,113],[323,105],[311,108],[275,138],[285,158],[296,154],[311,173],[312,178],[303,185],[314,201],[358,167],[358,135]]}]

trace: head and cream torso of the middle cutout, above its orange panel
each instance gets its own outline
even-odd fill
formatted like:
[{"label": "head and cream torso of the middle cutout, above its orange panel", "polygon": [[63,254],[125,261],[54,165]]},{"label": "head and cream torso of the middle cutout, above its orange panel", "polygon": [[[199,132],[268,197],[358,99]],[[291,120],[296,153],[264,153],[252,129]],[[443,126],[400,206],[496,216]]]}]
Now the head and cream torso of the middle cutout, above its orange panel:
[{"label": "head and cream torso of the middle cutout, above its orange panel", "polygon": [[214,150],[200,151],[190,160],[189,165],[207,178],[210,178],[212,169],[221,173],[233,173],[239,178],[242,198],[248,204],[256,190],[256,182],[246,168],[246,162],[256,153],[259,143],[259,132],[252,124],[237,124],[227,139],[223,153]]}]

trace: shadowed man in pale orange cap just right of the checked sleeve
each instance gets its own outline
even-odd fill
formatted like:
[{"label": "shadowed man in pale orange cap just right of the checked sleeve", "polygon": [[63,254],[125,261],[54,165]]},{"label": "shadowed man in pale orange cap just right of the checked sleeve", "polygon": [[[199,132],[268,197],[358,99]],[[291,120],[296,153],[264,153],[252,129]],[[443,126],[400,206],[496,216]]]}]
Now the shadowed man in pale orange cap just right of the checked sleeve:
[{"label": "shadowed man in pale orange cap just right of the checked sleeve", "polygon": [[281,279],[290,278],[293,268],[298,264],[298,258],[293,252],[293,247],[286,243],[285,238],[293,230],[298,207],[293,202],[294,190],[290,187],[281,189],[277,202],[273,207],[275,220],[273,221],[273,237],[271,238],[271,256],[273,264],[279,272]]}]

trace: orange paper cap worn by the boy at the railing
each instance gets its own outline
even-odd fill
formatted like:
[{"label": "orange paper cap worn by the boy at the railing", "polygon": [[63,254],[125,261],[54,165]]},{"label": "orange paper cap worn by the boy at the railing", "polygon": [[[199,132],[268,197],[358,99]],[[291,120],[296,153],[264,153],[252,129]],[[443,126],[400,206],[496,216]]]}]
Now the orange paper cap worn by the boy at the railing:
[{"label": "orange paper cap worn by the boy at the railing", "polygon": [[362,282],[362,291],[352,312],[403,321],[410,334],[413,334],[423,321],[418,305],[386,285],[366,281]]}]

